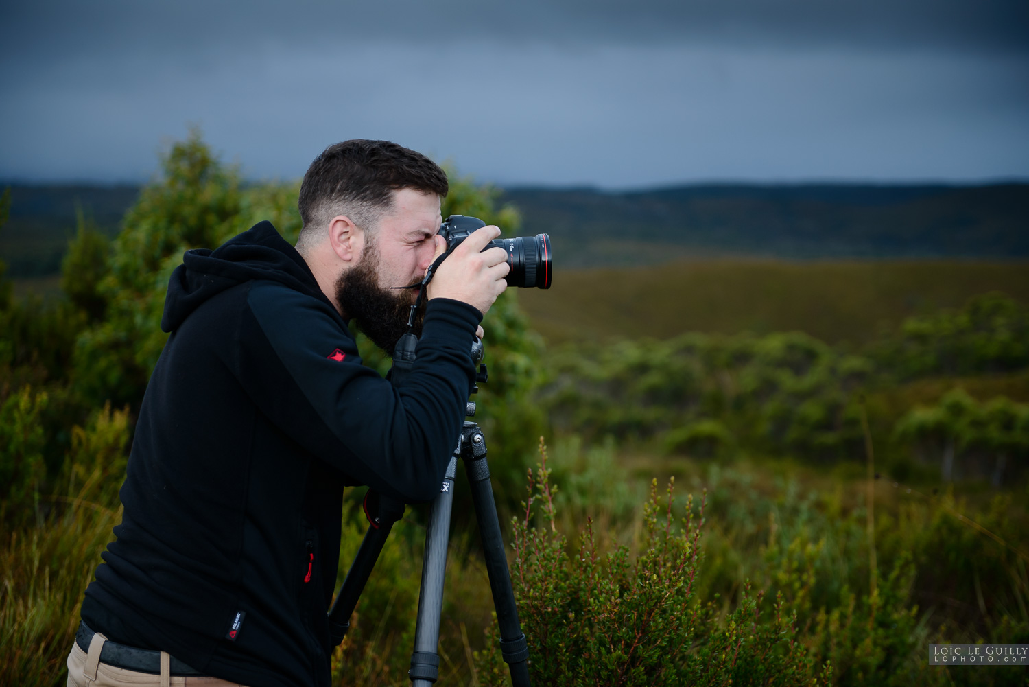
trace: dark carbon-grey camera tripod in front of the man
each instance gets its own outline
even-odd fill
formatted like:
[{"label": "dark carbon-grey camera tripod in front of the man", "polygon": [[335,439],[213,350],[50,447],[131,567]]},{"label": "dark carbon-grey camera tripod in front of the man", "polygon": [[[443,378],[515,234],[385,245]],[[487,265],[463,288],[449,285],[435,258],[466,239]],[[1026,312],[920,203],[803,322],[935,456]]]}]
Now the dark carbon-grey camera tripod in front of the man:
[{"label": "dark carbon-grey camera tripod in front of the man", "polygon": [[[406,339],[406,341],[404,341]],[[406,334],[397,344],[393,357],[391,381],[397,384],[411,370],[415,359],[417,338]],[[476,339],[472,345],[472,359],[477,365],[483,358],[483,345]],[[486,366],[480,366],[476,381],[486,381]],[[476,392],[475,386],[472,392]],[[467,404],[467,416],[475,413],[475,404]],[[414,687],[429,687],[439,677],[439,621],[442,613],[443,577],[447,568],[447,545],[450,539],[451,510],[454,504],[454,478],[457,461],[464,461],[471,496],[475,507],[475,518],[483,540],[486,555],[486,570],[493,592],[493,605],[500,625],[500,650],[511,674],[513,687],[529,687],[529,649],[522,633],[511,589],[510,572],[507,569],[507,554],[500,534],[500,520],[493,499],[490,483],[490,469],[486,462],[486,437],[477,424],[465,421],[458,438],[457,448],[447,466],[447,474],[439,493],[432,501],[429,510],[429,524],[425,535],[425,556],[422,562],[422,588],[418,597],[418,620],[415,626],[415,651],[411,655],[411,669],[407,676]],[[364,589],[371,569],[382,552],[393,523],[403,515],[404,504],[382,496],[368,490],[364,497],[364,513],[370,526],[364,535],[354,562],[347,573],[340,593],[329,610],[329,631],[332,646],[343,642],[350,628],[350,617],[357,606],[357,599]]]}]

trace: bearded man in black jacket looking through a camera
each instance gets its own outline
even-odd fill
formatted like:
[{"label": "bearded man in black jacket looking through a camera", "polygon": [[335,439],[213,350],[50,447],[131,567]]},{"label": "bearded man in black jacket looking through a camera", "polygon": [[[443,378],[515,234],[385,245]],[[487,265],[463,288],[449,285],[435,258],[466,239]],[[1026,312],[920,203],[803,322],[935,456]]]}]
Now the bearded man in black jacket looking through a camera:
[{"label": "bearded man in black jacket looking through a camera", "polygon": [[329,684],[344,487],[436,494],[506,287],[484,227],[436,269],[403,382],[361,365],[350,323],[392,353],[416,296],[396,287],[446,249],[447,193],[424,156],[346,141],[304,177],[295,249],[262,221],[185,253],[69,686]]}]

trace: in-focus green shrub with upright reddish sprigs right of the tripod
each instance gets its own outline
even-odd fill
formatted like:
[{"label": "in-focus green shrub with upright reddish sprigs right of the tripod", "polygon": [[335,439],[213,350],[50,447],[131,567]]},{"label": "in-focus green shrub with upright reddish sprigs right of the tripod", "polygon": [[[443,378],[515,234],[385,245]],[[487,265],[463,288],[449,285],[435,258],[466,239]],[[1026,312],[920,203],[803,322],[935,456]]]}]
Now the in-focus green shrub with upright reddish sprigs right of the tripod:
[{"label": "in-focus green shrub with upright reddish sprigs right of the tripod", "polygon": [[[748,584],[719,622],[719,606],[695,597],[704,504],[695,516],[688,500],[676,523],[672,484],[664,496],[657,480],[651,485],[637,555],[626,546],[599,555],[588,519],[578,552],[569,556],[556,527],[542,442],[540,451],[524,517],[513,522],[512,577],[534,684],[829,684],[830,666],[807,656],[780,600],[774,618],[762,617],[764,594]],[[503,684],[495,650],[478,660],[485,684]]]}]

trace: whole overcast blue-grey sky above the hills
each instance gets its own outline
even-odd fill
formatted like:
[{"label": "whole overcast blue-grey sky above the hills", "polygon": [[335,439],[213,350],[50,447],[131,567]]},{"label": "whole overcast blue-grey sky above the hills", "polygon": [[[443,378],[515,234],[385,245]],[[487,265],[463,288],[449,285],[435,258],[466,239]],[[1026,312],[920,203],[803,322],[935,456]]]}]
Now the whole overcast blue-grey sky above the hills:
[{"label": "whole overcast blue-grey sky above the hills", "polygon": [[7,2],[0,178],[385,138],[505,184],[1029,178],[1027,0]]}]

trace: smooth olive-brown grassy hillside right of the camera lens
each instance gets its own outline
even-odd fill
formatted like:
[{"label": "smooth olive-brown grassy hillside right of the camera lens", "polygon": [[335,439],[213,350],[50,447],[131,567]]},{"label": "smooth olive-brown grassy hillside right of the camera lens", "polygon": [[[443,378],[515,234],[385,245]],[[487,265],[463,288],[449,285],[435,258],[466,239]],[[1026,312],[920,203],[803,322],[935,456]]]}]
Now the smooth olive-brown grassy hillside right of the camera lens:
[{"label": "smooth olive-brown grassy hillside right of the camera lens", "polygon": [[1029,302],[1029,264],[977,261],[680,260],[653,267],[562,270],[519,293],[551,344],[684,332],[806,332],[859,345],[884,327],[999,290]]}]

